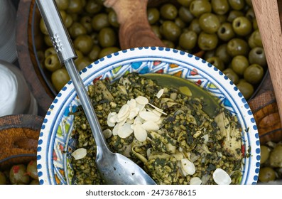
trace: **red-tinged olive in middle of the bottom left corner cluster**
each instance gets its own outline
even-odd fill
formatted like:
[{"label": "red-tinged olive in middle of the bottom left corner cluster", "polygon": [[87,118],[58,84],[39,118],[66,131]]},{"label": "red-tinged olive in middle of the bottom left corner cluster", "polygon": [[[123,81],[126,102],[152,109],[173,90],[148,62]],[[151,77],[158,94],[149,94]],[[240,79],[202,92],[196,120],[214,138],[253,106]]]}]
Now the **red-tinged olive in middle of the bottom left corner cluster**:
[{"label": "red-tinged olive in middle of the bottom left corner cluster", "polygon": [[12,166],[9,173],[9,180],[13,185],[28,184],[30,177],[26,173],[26,165],[16,164]]}]

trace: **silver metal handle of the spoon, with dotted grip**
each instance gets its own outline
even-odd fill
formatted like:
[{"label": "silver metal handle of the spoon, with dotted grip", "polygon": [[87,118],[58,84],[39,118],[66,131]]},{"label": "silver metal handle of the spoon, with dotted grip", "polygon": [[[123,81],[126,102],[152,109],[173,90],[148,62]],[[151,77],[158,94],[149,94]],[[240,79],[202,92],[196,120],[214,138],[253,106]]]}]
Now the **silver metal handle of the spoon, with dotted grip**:
[{"label": "silver metal handle of the spoon, with dotted grip", "polygon": [[65,64],[65,68],[67,68],[70,79],[75,86],[77,96],[80,98],[80,102],[85,111],[87,120],[92,129],[92,134],[97,144],[97,156],[98,153],[100,153],[99,157],[102,158],[102,151],[107,152],[109,149],[107,148],[107,144],[102,134],[99,120],[90,101],[90,97],[87,95],[85,85],[83,84],[82,79],[75,68],[73,58],[76,58],[77,55],[75,54],[75,50],[72,46],[70,36],[63,25],[62,18],[58,12],[58,8],[55,5],[54,0],[36,0],[36,4],[38,5],[40,14],[43,17],[45,25],[48,29],[50,38],[53,41],[53,45],[58,54],[60,63]]}]

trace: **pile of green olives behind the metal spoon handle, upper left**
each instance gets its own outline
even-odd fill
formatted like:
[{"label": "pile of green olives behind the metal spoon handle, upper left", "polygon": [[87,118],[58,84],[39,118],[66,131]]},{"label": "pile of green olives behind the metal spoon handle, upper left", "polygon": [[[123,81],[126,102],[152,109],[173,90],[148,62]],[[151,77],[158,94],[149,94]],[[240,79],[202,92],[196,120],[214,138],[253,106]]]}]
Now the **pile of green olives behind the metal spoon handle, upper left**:
[{"label": "pile of green olives behind the metal spoon handle, upper left", "polygon": [[[77,70],[120,50],[116,14],[104,6],[103,0],[55,0],[55,3],[77,54]],[[44,43],[37,49],[37,54],[44,70],[50,74],[55,90],[59,92],[70,77],[58,60],[43,18],[40,18],[39,28]]]}]

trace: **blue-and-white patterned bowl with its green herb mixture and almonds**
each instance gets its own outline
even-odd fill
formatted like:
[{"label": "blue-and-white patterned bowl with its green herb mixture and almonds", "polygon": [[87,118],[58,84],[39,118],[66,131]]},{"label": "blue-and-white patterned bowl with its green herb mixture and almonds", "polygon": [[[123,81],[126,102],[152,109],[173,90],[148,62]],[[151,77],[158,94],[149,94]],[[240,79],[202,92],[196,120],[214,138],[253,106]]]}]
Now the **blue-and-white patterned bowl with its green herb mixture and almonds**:
[{"label": "blue-and-white patterned bowl with its green herb mixture and almonds", "polygon": [[[173,48],[132,48],[96,60],[80,75],[111,149],[133,158],[158,184],[256,184],[256,122],[242,92],[212,64]],[[40,131],[39,183],[103,183],[91,135],[67,82]]]}]

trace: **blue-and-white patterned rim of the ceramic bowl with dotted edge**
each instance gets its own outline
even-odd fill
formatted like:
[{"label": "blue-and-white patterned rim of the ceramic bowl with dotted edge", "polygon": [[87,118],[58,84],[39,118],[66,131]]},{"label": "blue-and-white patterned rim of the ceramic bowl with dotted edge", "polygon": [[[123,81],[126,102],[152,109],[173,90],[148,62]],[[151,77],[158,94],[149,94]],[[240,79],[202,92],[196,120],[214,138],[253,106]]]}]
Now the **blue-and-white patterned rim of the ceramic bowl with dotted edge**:
[{"label": "blue-and-white patterned rim of the ceramic bowl with dotted edge", "polygon": [[[249,156],[242,163],[241,184],[256,184],[260,166],[259,133],[251,109],[237,87],[226,75],[205,60],[172,48],[132,48],[101,58],[80,71],[87,87],[96,78],[118,80],[128,72],[165,73],[195,82],[215,96],[222,107],[236,114],[242,124],[242,149]],[[73,116],[80,105],[68,82],[55,97],[43,121],[38,140],[38,176],[40,184],[70,184],[73,176],[69,162],[75,149],[71,139]]]}]

